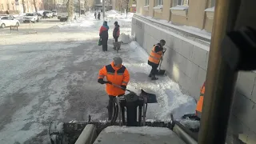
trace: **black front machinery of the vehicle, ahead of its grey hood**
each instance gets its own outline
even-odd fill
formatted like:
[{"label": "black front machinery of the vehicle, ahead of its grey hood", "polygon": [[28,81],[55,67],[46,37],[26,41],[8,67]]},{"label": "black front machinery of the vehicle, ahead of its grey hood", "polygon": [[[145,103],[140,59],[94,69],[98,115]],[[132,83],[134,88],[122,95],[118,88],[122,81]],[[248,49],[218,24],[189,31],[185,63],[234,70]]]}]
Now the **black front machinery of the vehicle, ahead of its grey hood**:
[{"label": "black front machinery of the vehicle, ahead of its grey hood", "polygon": [[[88,143],[92,144],[95,138],[101,134],[102,130],[108,126],[127,126],[127,127],[160,127],[173,130],[174,122],[146,122],[146,110],[148,103],[157,103],[156,95],[146,93],[141,90],[141,94],[137,95],[130,91],[130,94],[126,94],[114,99],[114,113],[110,121],[105,122],[91,122],[89,116],[88,122],[51,122],[49,128],[50,141],[52,144],[73,144],[73,143]],[[126,109],[126,110],[125,110]],[[126,111],[126,115],[125,115]],[[119,115],[119,121],[117,121]],[[138,117],[138,118],[137,118]],[[94,126],[95,130],[89,132],[83,132],[86,130],[86,126]],[[180,125],[183,129],[184,126]],[[117,127],[115,127],[116,129]],[[165,130],[164,129],[164,130]],[[156,131],[157,132],[157,131]],[[88,138],[81,138],[82,134],[90,136]],[[129,134],[128,134],[129,135]],[[178,136],[177,136],[178,138]],[[79,142],[78,142],[79,141]],[[90,141],[90,142],[88,142]],[[178,138],[178,141],[183,144],[182,140]],[[104,142],[102,142],[104,143]],[[110,142],[111,143],[111,142]],[[121,142],[122,143],[122,142]],[[185,144],[185,143],[184,143]]]}]

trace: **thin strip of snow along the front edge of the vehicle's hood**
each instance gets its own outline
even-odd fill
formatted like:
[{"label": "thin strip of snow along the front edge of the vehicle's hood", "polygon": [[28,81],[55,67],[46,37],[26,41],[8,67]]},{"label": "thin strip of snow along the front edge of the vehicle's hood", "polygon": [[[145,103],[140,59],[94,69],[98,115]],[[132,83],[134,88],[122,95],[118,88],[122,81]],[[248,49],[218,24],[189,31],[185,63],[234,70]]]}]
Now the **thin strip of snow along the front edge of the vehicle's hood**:
[{"label": "thin strip of snow along the front edge of the vehicle's hood", "polygon": [[174,134],[173,131],[167,128],[149,127],[149,126],[143,126],[143,127],[108,126],[106,127],[106,129],[104,129],[104,131],[106,131],[106,133],[116,133],[116,134],[133,133],[133,134],[148,134],[151,136]]}]

